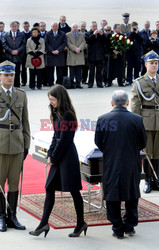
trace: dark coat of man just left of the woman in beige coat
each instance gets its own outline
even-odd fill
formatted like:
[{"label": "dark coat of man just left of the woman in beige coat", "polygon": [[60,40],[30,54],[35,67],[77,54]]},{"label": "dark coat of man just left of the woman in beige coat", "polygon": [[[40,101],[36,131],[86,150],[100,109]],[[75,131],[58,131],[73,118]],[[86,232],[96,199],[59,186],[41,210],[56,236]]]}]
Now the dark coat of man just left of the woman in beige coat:
[{"label": "dark coat of man just left of the woman in beige coat", "polygon": [[[13,63],[21,63],[25,55],[25,47],[26,47],[24,34],[20,31],[17,31],[16,37],[15,37],[15,44],[14,44],[11,31],[7,32],[4,35],[3,47],[5,49],[6,60],[9,60]],[[18,55],[15,55],[15,56],[12,55],[11,54],[12,50],[18,50],[19,52]]]}]

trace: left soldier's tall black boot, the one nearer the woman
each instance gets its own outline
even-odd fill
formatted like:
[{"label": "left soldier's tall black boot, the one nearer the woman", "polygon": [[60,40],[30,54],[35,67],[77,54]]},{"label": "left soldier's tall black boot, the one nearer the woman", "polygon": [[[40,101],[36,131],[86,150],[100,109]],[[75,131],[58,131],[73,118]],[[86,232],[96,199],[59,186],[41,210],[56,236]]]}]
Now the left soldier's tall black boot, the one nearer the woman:
[{"label": "left soldier's tall black boot, the one nearer the woman", "polygon": [[7,219],[7,227],[15,228],[18,230],[25,230],[25,226],[21,225],[16,217],[16,208],[18,202],[18,191],[17,192],[8,192],[8,219]]}]

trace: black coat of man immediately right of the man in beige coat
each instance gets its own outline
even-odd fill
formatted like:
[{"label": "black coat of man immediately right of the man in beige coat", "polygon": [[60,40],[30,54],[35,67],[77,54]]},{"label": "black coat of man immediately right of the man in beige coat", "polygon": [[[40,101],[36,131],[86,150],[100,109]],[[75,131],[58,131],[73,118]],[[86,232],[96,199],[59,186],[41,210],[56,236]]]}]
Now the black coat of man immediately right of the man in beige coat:
[{"label": "black coat of man immediately right of the man in beige coat", "polygon": [[88,44],[88,61],[98,62],[104,61],[104,44],[107,40],[103,34],[93,35],[93,31],[90,30],[85,34],[86,43]]}]

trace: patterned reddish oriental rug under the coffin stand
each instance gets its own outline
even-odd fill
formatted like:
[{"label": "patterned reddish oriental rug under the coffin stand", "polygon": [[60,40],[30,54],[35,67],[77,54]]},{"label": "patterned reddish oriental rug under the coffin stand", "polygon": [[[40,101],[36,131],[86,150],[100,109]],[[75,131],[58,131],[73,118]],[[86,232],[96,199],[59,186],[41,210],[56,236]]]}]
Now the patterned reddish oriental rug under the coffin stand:
[{"label": "patterned reddish oriental rug under the coffin stand", "polygon": [[[70,194],[65,193],[64,195],[66,196]],[[93,195],[91,201],[93,201],[94,204],[99,205],[100,198],[100,194]],[[44,200],[45,194],[22,195],[21,208],[29,214],[33,215],[34,217],[41,219]],[[91,206],[91,209],[94,208]],[[85,202],[84,210],[88,210],[88,205]],[[124,212],[125,210],[122,210],[122,215]],[[139,222],[159,221],[159,206],[142,198],[140,198],[139,200],[138,213]],[[111,224],[106,217],[105,208],[102,208],[102,210],[100,210],[99,212],[85,213],[84,217],[85,221],[89,226],[101,226]],[[55,206],[50,215],[49,224],[55,229],[75,227],[76,213],[71,197],[58,198],[56,196]]]}]

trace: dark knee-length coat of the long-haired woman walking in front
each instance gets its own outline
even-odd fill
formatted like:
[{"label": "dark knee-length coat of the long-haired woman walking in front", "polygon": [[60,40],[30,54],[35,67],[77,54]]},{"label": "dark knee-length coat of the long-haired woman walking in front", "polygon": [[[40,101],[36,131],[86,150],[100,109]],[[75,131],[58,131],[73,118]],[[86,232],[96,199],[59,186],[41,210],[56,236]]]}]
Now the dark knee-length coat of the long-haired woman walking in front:
[{"label": "dark knee-length coat of the long-haired woman walking in front", "polygon": [[81,175],[79,159],[73,142],[75,129],[72,125],[73,117],[65,114],[60,121],[54,121],[54,136],[48,150],[51,157],[50,172],[46,182],[46,190],[53,188],[61,191],[81,190]]}]

